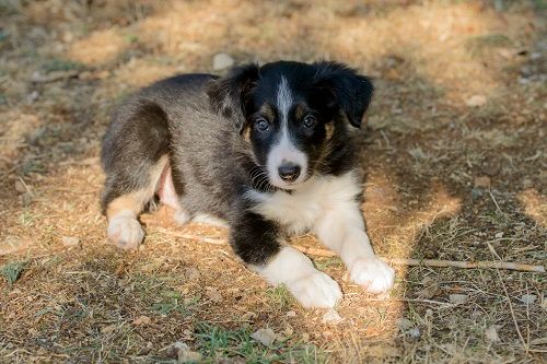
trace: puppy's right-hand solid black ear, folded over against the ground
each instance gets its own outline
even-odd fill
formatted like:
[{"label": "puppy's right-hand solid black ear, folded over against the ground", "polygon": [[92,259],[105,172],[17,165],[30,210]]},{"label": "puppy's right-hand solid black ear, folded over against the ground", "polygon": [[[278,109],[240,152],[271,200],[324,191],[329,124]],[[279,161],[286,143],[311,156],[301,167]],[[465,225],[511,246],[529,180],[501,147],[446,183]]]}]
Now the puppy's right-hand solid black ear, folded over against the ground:
[{"label": "puppy's right-hand solid black ear, folded over against the ground", "polygon": [[369,108],[374,86],[372,81],[341,63],[322,61],[315,67],[315,86],[327,89],[335,102],[356,128],[361,127],[364,111]]}]

